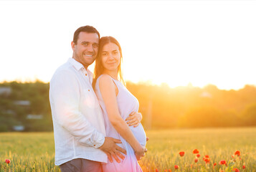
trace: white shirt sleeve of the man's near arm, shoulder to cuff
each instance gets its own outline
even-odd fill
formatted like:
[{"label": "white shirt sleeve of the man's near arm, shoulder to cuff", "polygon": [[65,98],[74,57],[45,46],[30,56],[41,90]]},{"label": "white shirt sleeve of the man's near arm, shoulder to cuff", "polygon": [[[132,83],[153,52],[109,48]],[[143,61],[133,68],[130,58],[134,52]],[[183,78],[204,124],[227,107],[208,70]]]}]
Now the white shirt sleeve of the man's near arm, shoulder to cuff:
[{"label": "white shirt sleeve of the man's near arm, shoulder to cuff", "polygon": [[54,120],[85,145],[99,148],[105,135],[98,132],[79,111],[79,81],[70,71],[59,71],[50,83],[50,100]]}]

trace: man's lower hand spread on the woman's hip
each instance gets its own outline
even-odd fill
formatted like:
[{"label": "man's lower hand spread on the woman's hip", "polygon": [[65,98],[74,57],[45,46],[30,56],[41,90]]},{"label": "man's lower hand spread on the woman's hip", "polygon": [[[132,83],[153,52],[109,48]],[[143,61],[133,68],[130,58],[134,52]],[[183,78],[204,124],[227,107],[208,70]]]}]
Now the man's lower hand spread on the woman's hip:
[{"label": "man's lower hand spread on the woman's hip", "polygon": [[111,163],[113,162],[112,156],[113,158],[115,158],[116,162],[120,163],[118,156],[124,159],[125,157],[122,155],[122,153],[126,155],[126,151],[123,148],[120,148],[120,146],[116,145],[115,143],[122,143],[122,142],[121,140],[118,140],[115,138],[105,137],[105,141],[103,145],[100,146],[100,150],[104,151],[107,154],[108,159],[110,160]]}]

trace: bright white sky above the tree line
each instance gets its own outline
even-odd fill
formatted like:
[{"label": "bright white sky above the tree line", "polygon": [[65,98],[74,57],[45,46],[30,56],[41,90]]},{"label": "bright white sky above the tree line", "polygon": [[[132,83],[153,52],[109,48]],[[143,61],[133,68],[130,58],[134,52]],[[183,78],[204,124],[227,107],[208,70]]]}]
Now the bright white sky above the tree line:
[{"label": "bright white sky above the tree line", "polygon": [[[125,80],[256,85],[256,1],[0,1],[0,82],[49,82],[78,27],[115,37]],[[89,67],[93,70],[94,64]]]}]

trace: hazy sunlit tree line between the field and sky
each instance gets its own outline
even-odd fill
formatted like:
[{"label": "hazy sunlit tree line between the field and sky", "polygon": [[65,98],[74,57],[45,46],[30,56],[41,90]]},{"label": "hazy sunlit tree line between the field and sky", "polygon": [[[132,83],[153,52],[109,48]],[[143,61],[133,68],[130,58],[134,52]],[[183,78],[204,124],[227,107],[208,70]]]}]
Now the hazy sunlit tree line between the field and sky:
[{"label": "hazy sunlit tree line between the field and sky", "polygon": [[[24,131],[51,131],[49,83],[3,82],[0,92],[0,131],[23,126]],[[157,128],[216,128],[256,125],[256,87],[245,85],[240,90],[219,90],[206,87],[175,87],[166,84],[126,82],[126,87],[138,98],[139,111],[146,129]],[[19,105],[24,100],[29,105]],[[28,118],[38,116],[40,118]]]}]

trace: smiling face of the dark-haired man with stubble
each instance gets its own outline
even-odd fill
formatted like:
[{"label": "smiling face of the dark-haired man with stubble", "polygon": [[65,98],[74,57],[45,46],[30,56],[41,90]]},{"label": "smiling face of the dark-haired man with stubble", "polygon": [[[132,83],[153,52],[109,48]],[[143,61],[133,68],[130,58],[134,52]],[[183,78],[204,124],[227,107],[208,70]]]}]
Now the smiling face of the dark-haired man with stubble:
[{"label": "smiling face of the dark-haired man with stubble", "polygon": [[96,33],[80,32],[77,44],[71,43],[73,58],[86,69],[91,65],[98,54],[99,37]]}]

